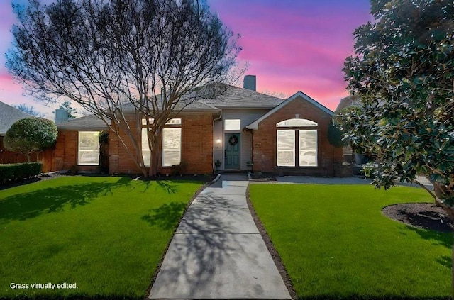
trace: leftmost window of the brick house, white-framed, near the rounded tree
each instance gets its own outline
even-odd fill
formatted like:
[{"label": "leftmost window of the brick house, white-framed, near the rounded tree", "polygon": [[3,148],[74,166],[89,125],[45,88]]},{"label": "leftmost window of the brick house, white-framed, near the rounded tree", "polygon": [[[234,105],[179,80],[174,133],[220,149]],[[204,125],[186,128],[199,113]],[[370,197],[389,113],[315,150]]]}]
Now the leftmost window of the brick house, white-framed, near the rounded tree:
[{"label": "leftmost window of the brick house, white-framed, near the rounded tree", "polygon": [[77,165],[99,165],[99,132],[79,131]]}]

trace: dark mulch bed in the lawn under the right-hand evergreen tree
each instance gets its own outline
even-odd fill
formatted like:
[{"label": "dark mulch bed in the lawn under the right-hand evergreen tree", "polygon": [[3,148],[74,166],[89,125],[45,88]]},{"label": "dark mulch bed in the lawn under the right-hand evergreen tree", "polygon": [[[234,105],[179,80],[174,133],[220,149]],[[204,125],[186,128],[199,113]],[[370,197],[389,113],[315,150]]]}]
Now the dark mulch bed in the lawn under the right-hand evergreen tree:
[{"label": "dark mulch bed in the lawn under the right-hand evergreen tree", "polygon": [[384,216],[416,228],[453,232],[453,220],[443,209],[431,203],[394,204],[382,209]]}]

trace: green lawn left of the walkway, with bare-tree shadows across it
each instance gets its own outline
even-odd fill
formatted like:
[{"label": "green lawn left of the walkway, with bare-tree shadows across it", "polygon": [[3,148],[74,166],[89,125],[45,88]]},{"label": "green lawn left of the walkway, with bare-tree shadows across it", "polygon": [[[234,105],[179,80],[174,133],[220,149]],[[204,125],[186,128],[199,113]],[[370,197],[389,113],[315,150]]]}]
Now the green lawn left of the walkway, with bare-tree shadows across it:
[{"label": "green lawn left of the walkway, with bare-tree shadows across it", "polygon": [[[60,177],[0,191],[0,299],[143,299],[200,182]],[[77,289],[33,289],[70,283]],[[29,284],[11,289],[10,284]]]}]

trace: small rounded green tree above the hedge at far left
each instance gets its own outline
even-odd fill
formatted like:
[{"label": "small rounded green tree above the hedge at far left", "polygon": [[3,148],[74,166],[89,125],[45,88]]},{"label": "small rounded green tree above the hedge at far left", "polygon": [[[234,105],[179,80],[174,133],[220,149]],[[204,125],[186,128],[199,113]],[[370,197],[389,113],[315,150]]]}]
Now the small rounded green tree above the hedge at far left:
[{"label": "small rounded green tree above the hedge at far left", "polygon": [[52,147],[57,140],[57,126],[45,118],[23,118],[11,125],[4,138],[5,148],[26,155]]}]

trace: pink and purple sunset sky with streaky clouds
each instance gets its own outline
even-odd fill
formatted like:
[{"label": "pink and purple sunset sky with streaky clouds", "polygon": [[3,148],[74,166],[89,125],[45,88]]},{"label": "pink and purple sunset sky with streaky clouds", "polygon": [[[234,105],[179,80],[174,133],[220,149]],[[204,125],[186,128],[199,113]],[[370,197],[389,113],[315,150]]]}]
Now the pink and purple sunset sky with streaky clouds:
[{"label": "pink and purple sunset sky with streaky clouds", "polygon": [[[49,3],[50,0],[45,1]],[[14,3],[27,3],[14,0]],[[246,74],[257,76],[257,91],[291,96],[303,91],[334,110],[348,95],[343,79],[345,57],[353,54],[353,30],[371,20],[368,0],[208,0],[223,23],[241,35],[240,60]],[[35,106],[53,118],[57,105],[46,107],[23,96],[5,67],[16,16],[11,1],[0,0],[0,101]]]}]

